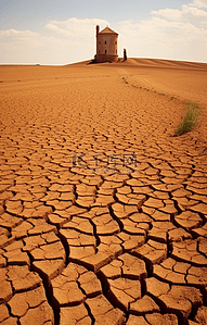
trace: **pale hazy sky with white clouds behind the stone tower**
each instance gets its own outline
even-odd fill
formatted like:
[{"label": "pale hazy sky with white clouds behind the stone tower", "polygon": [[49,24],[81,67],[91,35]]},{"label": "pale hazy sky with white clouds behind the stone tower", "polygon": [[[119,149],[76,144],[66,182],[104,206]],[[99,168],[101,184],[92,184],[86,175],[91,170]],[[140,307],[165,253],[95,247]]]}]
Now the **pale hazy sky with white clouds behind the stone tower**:
[{"label": "pale hazy sky with white clouds behind the stone tower", "polygon": [[0,0],[0,64],[93,59],[96,25],[119,57],[207,63],[207,0]]}]

